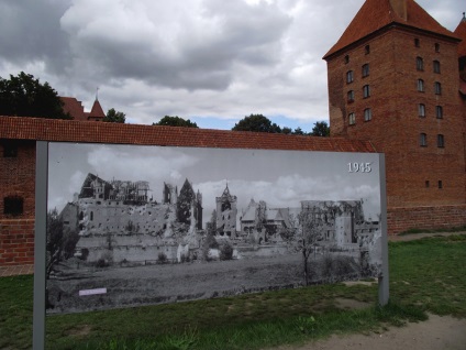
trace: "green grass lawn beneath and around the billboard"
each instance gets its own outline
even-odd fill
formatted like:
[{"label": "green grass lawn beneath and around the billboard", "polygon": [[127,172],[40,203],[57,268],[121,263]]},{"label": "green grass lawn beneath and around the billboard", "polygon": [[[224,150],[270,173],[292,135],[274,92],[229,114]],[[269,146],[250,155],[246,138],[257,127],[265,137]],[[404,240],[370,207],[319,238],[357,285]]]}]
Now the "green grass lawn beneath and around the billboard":
[{"label": "green grass lawn beneath and around the billboard", "polygon": [[[466,317],[466,236],[389,243],[389,259],[390,303],[382,308],[374,283],[49,316],[47,348],[260,349],[377,332],[426,311]],[[0,349],[31,349],[32,288],[32,276],[0,278]],[[367,307],[345,309],[341,298]]]}]

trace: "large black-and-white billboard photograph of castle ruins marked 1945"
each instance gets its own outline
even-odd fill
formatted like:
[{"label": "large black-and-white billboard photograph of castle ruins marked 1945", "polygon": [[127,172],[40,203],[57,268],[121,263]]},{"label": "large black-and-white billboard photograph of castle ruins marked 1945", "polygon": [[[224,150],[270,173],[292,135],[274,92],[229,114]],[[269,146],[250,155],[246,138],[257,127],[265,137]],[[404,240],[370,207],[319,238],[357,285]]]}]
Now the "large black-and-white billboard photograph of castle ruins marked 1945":
[{"label": "large black-and-white billboard photograph of castle ruins marked 1945", "polygon": [[52,142],[46,310],[378,277],[379,156]]}]

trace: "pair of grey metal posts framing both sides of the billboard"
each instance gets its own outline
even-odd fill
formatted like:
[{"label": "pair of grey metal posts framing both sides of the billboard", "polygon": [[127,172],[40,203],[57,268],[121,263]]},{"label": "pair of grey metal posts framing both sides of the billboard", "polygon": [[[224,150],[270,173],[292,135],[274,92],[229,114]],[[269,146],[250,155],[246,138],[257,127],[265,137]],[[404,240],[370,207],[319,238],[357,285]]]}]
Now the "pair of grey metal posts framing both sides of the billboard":
[{"label": "pair of grey metal posts framing both sides of the billboard", "polygon": [[[35,179],[35,238],[34,238],[34,315],[33,349],[45,348],[46,315],[46,218],[48,195],[48,144],[36,141]],[[380,186],[380,229],[381,229],[381,276],[378,278],[378,304],[384,306],[389,299],[388,238],[387,238],[387,197],[385,155],[379,158]]]}]

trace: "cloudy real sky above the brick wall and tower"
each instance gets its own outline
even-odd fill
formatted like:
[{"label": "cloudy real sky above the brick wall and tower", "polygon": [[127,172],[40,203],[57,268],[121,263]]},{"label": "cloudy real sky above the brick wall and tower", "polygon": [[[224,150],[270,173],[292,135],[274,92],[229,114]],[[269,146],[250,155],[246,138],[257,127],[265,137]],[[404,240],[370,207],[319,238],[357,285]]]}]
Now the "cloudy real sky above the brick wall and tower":
[{"label": "cloudy real sky above the brick wall and tower", "polygon": [[[329,119],[326,64],[364,0],[0,0],[0,76],[34,75],[90,111],[230,130]],[[464,0],[418,0],[454,31]]]}]

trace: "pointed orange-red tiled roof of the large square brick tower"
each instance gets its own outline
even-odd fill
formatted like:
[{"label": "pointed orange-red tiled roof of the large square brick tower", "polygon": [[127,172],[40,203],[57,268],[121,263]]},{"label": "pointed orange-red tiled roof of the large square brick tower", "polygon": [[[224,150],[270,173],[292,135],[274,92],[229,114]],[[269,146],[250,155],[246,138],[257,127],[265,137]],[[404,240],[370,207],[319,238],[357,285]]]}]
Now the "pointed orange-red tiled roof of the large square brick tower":
[{"label": "pointed orange-red tiled roof of the large square brick tower", "polygon": [[[418,30],[454,37],[455,35],[435,21],[424,9],[422,9],[414,0],[406,1],[406,15],[400,15],[395,10],[392,0],[366,0],[359,9],[353,21],[346,28],[343,35],[335,45],[323,56],[328,58],[330,55],[340,50],[381,30],[387,25],[399,24],[410,26]],[[398,2],[400,4],[400,2]],[[403,6],[403,4],[400,4]]]}]

